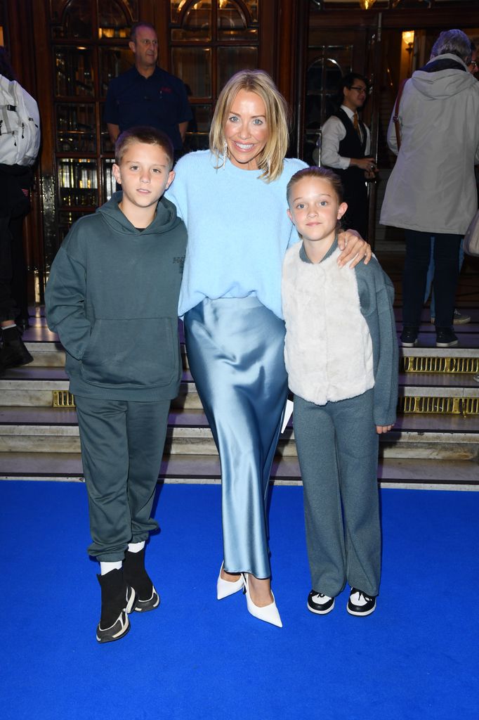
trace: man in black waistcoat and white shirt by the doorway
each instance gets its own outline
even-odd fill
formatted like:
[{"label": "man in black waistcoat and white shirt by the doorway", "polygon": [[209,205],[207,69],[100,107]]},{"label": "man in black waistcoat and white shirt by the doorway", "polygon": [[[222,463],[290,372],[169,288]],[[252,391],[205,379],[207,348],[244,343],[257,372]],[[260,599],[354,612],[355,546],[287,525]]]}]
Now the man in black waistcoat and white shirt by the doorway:
[{"label": "man in black waistcoat and white shirt by the doorway", "polygon": [[377,172],[370,157],[370,132],[358,117],[368,96],[368,80],[358,73],[342,78],[341,107],[324,123],[321,133],[321,165],[334,170],[345,188],[345,228],[368,238],[368,188],[366,180]]}]

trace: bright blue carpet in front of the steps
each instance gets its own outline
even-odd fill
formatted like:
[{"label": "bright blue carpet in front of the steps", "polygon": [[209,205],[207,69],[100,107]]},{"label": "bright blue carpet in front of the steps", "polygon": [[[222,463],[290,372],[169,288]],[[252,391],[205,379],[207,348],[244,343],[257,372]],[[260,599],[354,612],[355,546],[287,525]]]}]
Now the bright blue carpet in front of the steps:
[{"label": "bright blue carpet in front of the steps", "polygon": [[218,602],[216,486],[165,485],[147,549],[160,590],[99,645],[81,484],[1,482],[3,720],[477,720],[479,492],[383,490],[383,583],[368,618],[306,610],[300,488],[270,508],[277,629]]}]

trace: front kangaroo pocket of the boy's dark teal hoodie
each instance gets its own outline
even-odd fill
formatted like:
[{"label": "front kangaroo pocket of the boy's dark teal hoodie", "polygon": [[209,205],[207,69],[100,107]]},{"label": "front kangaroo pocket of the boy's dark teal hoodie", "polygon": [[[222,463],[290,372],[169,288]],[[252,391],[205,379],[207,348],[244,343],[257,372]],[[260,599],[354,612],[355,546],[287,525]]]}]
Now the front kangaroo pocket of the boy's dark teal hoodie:
[{"label": "front kangaroo pocket of the boy's dark teal hoodie", "polygon": [[104,387],[162,387],[180,373],[178,320],[96,320],[81,362],[86,382]]}]

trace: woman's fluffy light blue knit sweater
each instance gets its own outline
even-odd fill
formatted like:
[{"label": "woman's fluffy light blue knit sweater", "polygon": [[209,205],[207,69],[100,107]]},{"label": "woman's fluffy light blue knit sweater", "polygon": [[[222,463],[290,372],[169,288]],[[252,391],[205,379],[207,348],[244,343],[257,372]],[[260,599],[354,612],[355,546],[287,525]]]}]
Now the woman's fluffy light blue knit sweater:
[{"label": "woman's fluffy light blue knit sweater", "polygon": [[205,297],[254,294],[281,314],[281,266],[298,235],[286,215],[286,185],[306,164],[286,159],[278,180],[265,183],[260,171],[227,161],[216,170],[209,150],[189,153],[175,166],[166,192],[188,230],[178,315]]}]

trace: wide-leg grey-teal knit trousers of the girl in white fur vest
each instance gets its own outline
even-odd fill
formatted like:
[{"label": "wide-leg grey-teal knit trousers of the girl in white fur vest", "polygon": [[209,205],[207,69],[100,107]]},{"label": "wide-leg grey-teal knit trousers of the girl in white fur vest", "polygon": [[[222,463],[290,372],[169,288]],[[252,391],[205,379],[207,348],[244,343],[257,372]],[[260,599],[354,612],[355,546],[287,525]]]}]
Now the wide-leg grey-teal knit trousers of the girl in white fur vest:
[{"label": "wide-leg grey-teal knit trousers of the girl in white fur vest", "polygon": [[381,533],[373,390],[326,405],[294,397],[312,588],[378,595]]}]

